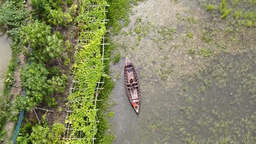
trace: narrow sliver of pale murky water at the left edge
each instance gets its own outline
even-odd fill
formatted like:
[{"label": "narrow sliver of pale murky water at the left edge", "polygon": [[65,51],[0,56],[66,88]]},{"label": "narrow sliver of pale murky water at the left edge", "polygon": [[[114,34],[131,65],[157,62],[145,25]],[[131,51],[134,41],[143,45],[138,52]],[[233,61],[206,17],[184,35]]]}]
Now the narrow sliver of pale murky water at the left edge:
[{"label": "narrow sliver of pale murky water at the left edge", "polygon": [[3,94],[3,79],[11,56],[10,39],[0,37],[0,95]]}]

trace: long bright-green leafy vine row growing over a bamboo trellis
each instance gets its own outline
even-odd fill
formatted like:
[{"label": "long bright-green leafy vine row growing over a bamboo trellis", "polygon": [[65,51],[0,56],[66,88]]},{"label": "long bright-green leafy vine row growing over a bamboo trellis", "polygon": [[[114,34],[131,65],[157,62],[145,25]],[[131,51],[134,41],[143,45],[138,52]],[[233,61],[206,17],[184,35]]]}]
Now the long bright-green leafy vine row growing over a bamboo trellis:
[{"label": "long bright-green leafy vine row growing over a bamboo trellis", "polygon": [[[105,1],[93,2],[95,5],[107,5]],[[74,80],[79,82],[73,87],[77,90],[68,97],[73,112],[66,121],[73,129],[71,135],[82,131],[81,138],[84,140],[67,140],[70,143],[92,143],[92,138],[97,133],[97,111],[93,100],[97,82],[103,77],[101,43],[106,27],[102,20],[106,15],[104,7],[91,8],[88,7],[89,4],[92,1],[80,1],[76,19],[80,28],[80,44],[75,53],[73,73]]]}]

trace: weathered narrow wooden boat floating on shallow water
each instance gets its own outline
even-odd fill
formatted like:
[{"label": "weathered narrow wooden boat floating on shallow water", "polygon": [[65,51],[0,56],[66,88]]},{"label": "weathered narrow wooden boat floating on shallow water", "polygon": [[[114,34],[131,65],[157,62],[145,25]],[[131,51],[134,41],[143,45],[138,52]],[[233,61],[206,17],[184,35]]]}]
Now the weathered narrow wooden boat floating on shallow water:
[{"label": "weathered narrow wooden boat floating on shallow water", "polygon": [[127,57],[125,58],[124,83],[125,83],[125,91],[131,103],[131,106],[138,114],[139,106],[141,104],[141,93],[139,89],[139,81],[138,81],[136,71],[132,63]]}]

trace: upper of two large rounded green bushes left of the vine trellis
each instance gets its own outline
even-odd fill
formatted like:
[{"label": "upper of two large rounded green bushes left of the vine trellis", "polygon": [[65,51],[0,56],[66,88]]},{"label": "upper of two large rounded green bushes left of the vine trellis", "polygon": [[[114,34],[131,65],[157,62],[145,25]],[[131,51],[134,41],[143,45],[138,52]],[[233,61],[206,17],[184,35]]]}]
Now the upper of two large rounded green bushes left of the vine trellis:
[{"label": "upper of two large rounded green bushes left of the vine trellis", "polygon": [[46,62],[60,56],[63,51],[63,40],[59,32],[51,34],[51,27],[38,20],[22,27],[23,45],[29,46],[24,52],[34,61]]}]

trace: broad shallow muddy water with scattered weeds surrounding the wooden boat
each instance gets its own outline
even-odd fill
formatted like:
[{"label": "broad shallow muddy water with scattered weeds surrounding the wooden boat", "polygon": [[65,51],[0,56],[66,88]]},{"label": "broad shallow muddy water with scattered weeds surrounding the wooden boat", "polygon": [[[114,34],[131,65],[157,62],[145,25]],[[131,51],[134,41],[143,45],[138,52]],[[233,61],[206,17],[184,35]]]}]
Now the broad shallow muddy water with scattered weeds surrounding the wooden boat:
[{"label": "broad shallow muddy water with scattered weeds surrounding the wooden boat", "polygon": [[111,68],[115,143],[252,143],[255,28],[226,32],[230,23],[198,1],[148,0],[132,11],[129,26],[112,39],[137,70],[142,102],[136,115],[121,59]]}]

